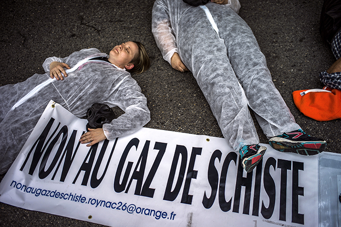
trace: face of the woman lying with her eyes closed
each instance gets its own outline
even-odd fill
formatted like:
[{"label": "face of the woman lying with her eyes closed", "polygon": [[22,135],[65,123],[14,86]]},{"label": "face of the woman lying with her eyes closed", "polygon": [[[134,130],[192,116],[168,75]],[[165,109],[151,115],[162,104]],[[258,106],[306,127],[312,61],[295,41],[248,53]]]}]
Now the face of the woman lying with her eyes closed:
[{"label": "face of the woman lying with her eyes closed", "polygon": [[127,42],[115,46],[109,53],[108,60],[120,68],[132,69],[130,62],[138,54],[138,46],[134,42]]}]

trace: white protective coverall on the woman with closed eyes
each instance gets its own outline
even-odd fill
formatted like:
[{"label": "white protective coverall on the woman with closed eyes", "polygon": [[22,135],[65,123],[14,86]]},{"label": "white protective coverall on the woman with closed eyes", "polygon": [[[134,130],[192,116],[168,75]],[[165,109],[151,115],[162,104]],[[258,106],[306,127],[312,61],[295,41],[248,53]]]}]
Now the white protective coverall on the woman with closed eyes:
[{"label": "white protective coverall on the woman with closed eyes", "polygon": [[107,56],[96,48],[83,49],[65,58],[49,57],[43,63],[45,74],[35,74],[26,81],[0,87],[0,174],[5,173],[20,152],[52,99],[77,117],[85,116],[93,103],[118,106],[125,113],[104,124],[110,140],[132,134],[150,121],[147,100],[137,82],[126,70],[105,62],[86,62],[64,80],[48,84],[24,103],[14,104],[37,85],[49,80],[49,65],[64,62],[71,68],[85,58]]}]

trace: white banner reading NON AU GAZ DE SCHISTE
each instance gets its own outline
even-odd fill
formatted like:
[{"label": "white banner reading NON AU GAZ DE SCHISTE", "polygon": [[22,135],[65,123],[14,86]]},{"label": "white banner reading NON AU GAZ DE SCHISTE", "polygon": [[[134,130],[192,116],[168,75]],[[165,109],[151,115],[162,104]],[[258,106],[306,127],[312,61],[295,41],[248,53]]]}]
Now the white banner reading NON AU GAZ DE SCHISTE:
[{"label": "white banner reading NON AU GAZ DE SCHISTE", "polygon": [[317,155],[265,145],[247,174],[223,138],[143,128],[86,147],[86,123],[51,101],[0,201],[113,227],[318,225]]}]

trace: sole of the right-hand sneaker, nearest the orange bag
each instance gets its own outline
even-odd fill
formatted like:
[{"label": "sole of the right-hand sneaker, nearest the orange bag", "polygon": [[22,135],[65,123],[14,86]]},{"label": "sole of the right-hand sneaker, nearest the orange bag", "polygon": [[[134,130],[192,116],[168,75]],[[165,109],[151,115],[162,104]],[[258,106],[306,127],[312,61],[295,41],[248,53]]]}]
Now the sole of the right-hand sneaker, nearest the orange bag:
[{"label": "sole of the right-hand sneaker, nearest the orange bag", "polygon": [[282,152],[298,153],[300,155],[316,155],[326,149],[326,141],[292,141],[281,137],[269,140],[272,148]]}]

